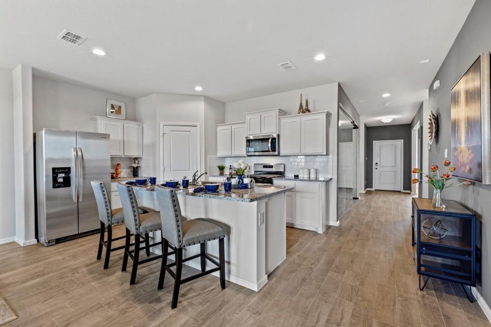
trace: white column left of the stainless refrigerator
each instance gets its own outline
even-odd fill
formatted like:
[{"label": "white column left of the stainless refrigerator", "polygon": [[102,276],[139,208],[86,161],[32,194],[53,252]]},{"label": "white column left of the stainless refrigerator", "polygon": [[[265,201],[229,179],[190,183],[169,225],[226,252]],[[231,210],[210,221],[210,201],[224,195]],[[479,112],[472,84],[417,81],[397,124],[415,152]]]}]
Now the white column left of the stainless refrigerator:
[{"label": "white column left of the stainless refrigerator", "polygon": [[12,71],[14,109],[15,241],[36,243],[34,216],[34,143],[32,130],[32,67]]}]

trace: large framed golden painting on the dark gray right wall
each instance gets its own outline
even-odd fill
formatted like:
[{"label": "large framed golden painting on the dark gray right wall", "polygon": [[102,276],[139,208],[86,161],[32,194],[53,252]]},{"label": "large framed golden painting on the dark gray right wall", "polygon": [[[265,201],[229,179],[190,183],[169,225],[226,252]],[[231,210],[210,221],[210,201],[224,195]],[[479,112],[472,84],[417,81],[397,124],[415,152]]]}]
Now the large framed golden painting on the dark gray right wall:
[{"label": "large framed golden painting on the dark gray right wall", "polygon": [[482,53],[451,89],[451,161],[455,177],[491,184],[490,53]]}]

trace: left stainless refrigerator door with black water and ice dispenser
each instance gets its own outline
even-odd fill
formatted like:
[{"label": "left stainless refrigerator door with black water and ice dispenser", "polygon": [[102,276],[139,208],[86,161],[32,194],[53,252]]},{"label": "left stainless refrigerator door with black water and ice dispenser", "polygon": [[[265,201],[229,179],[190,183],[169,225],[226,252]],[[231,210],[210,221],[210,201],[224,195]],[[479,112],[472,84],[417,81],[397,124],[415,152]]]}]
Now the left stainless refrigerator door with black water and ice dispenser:
[{"label": "left stainless refrigerator door with black water and ice dispenser", "polygon": [[44,151],[36,158],[44,162],[44,199],[40,199],[44,217],[39,219],[44,219],[44,226],[39,228],[44,228],[48,241],[78,233],[77,137],[74,131],[44,129],[42,133]]}]

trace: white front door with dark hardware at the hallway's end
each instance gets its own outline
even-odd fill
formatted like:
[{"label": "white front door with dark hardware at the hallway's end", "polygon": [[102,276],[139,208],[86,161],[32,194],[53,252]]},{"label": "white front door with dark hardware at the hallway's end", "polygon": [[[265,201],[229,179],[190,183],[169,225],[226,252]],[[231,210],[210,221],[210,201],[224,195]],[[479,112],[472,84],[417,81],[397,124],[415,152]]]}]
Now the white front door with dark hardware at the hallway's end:
[{"label": "white front door with dark hardware at the hallway's end", "polygon": [[373,188],[400,191],[402,141],[373,141]]}]

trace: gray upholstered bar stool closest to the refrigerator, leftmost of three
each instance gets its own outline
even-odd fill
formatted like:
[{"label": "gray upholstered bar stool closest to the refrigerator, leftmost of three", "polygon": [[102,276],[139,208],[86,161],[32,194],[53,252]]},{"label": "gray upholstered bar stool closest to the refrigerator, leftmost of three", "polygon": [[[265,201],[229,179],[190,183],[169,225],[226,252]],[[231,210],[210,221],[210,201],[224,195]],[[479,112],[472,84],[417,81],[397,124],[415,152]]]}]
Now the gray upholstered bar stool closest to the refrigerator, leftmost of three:
[{"label": "gray upholstered bar stool closest to the refrigerator, leftmost of three", "polygon": [[[109,256],[111,252],[124,249],[124,246],[118,246],[113,248],[112,242],[118,239],[123,239],[126,236],[121,236],[118,238],[113,238],[113,225],[121,224],[124,221],[123,209],[122,208],[111,208],[110,196],[106,190],[106,185],[98,180],[91,181],[92,190],[95,195],[95,202],[97,203],[97,210],[99,211],[100,220],[100,235],[99,235],[99,246],[97,248],[97,260],[100,260],[102,256],[102,247],[106,248],[106,256],[104,258],[104,269],[109,267]],[[149,208],[140,208],[140,213],[148,213],[149,211],[154,211]],[[104,233],[107,226],[107,240],[104,240]],[[148,234],[142,240],[146,245],[149,243]],[[150,248],[146,246],[147,256],[150,256]]]}]

